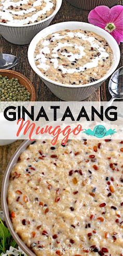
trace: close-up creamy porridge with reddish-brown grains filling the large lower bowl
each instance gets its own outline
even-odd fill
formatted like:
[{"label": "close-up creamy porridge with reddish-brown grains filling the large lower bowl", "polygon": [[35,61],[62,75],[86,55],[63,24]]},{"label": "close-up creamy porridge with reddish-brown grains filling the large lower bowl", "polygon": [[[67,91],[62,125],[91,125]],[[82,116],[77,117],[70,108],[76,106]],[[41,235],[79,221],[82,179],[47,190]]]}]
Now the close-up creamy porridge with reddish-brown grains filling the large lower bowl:
[{"label": "close-up creamy porridge with reddish-brown grains filling the large lower bowl", "polygon": [[60,255],[70,244],[80,251],[68,256],[122,256],[123,141],[60,143],[36,141],[11,172],[7,202],[16,233],[36,255],[52,255],[51,244]]}]

